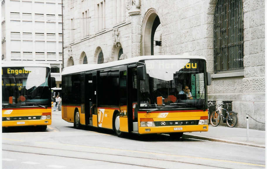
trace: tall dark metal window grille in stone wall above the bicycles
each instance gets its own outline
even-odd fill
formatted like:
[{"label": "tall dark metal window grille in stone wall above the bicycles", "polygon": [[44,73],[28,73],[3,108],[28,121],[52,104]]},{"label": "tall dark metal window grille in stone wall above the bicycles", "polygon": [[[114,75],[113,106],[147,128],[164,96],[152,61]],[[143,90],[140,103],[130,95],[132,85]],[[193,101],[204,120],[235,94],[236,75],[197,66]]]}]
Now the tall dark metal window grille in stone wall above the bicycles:
[{"label": "tall dark metal window grille in stone wall above the bicycles", "polygon": [[244,69],[242,0],[218,0],[214,13],[214,72]]}]

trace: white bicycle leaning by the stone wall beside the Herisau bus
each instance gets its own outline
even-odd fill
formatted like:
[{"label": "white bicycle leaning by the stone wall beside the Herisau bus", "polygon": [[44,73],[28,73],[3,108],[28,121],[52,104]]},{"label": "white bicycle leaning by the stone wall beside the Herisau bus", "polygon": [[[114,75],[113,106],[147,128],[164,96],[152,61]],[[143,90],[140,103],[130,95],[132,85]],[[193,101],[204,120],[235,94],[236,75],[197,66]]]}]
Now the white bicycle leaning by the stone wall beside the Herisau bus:
[{"label": "white bicycle leaning by the stone wall beside the Herisau bus", "polygon": [[[228,111],[228,108],[231,104],[216,104],[213,102],[209,102],[209,105],[216,105],[216,110],[213,111],[210,115],[210,124],[214,127],[218,126],[221,120],[221,116],[223,120],[226,120],[226,124],[228,127],[235,127],[237,124],[237,112],[235,111]],[[226,109],[222,108],[221,106],[225,105]],[[222,110],[226,111],[226,117],[223,116]]]}]

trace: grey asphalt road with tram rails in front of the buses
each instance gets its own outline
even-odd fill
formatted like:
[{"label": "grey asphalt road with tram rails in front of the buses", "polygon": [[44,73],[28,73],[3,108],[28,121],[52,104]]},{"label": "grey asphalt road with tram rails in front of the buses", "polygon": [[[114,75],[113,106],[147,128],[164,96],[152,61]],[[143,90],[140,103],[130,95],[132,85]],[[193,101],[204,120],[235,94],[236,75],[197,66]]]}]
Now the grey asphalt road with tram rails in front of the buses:
[{"label": "grey asphalt road with tram rails in front of the buses", "polygon": [[9,128],[2,133],[3,168],[265,168],[265,149],[169,135],[115,136],[83,127],[53,111],[46,131]]}]

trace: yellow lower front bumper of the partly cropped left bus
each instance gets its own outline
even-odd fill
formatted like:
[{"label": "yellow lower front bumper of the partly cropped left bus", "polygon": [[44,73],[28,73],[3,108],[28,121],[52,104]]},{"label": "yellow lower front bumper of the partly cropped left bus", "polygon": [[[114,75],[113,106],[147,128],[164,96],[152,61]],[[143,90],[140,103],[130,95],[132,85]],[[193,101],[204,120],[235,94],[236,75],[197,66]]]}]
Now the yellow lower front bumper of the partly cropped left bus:
[{"label": "yellow lower front bumper of the partly cropped left bus", "polygon": [[45,120],[23,120],[23,121],[2,121],[2,127],[11,127],[11,126],[43,126],[51,125],[51,119]]}]

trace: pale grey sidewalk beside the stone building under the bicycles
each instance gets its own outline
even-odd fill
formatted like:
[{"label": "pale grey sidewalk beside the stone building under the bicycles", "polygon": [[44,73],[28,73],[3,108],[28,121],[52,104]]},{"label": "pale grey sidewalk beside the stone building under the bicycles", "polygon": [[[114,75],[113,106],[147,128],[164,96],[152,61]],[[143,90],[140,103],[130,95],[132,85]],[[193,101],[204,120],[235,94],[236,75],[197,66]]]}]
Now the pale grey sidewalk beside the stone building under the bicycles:
[{"label": "pale grey sidewalk beside the stone building under the bicycles", "polygon": [[211,125],[207,132],[184,133],[183,137],[265,148],[265,131],[262,130],[249,129],[249,141],[247,141],[246,128]]}]

